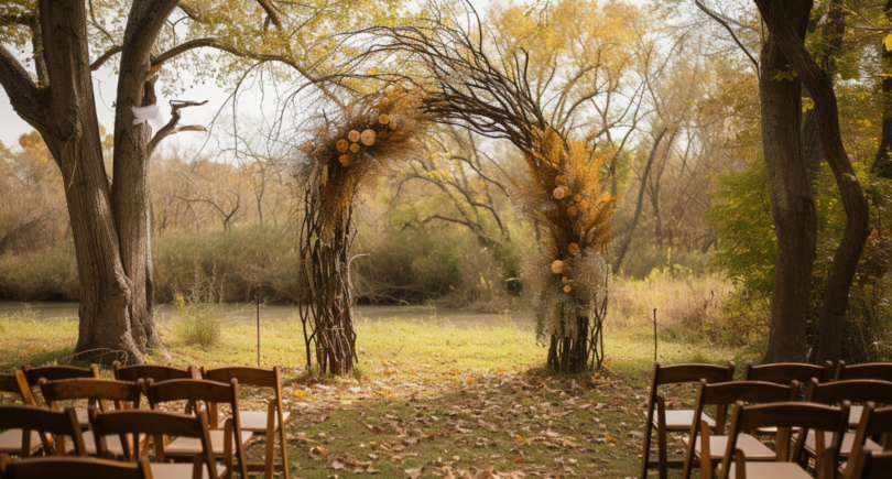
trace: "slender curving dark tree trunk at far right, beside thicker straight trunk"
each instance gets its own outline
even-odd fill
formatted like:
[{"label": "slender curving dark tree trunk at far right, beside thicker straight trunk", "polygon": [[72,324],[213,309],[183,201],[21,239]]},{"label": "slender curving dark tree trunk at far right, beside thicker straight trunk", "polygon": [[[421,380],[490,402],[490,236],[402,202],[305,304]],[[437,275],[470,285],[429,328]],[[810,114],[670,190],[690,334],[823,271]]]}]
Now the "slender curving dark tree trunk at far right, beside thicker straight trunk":
[{"label": "slender curving dark tree trunk at far right, beside thicker straight trunk", "polygon": [[[805,48],[805,43],[796,33],[796,28],[788,22],[788,13],[777,6],[770,6],[769,3],[774,2],[768,0],[760,0],[758,3],[771,34],[777,37],[779,48],[790,61],[791,66],[802,78],[815,101],[822,149],[833,170],[839,196],[842,199],[842,207],[846,210],[842,239],[834,253],[834,261],[825,284],[815,355],[815,359],[818,361],[838,360],[842,357],[849,292],[869,233],[868,203],[842,144],[839,109],[833,79]],[[808,3],[811,7],[811,2]]]}]

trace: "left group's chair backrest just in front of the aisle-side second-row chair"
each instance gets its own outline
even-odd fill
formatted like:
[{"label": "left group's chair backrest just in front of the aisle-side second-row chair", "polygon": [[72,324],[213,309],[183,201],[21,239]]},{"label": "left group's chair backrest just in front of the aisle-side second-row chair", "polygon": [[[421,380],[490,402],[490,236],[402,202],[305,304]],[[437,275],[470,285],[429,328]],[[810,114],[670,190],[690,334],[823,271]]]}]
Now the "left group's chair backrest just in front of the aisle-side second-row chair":
[{"label": "left group's chair backrest just in front of the aisle-side second-row chair", "polygon": [[205,467],[211,478],[217,477],[216,459],[204,410],[196,411],[194,415],[162,411],[100,413],[90,410],[90,425],[97,438],[96,448],[100,456],[108,454],[106,437],[120,436],[124,446],[124,457],[131,460],[143,456],[140,450],[140,435],[155,438],[157,460],[164,460],[164,436],[197,438],[202,443],[202,453],[200,461],[194,462],[195,467]]}]

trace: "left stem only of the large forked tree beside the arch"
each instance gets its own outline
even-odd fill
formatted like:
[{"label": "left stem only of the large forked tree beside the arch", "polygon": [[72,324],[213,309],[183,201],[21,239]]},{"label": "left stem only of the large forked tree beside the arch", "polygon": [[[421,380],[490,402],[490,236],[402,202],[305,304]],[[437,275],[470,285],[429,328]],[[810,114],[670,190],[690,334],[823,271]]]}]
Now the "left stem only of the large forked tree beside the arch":
[{"label": "left stem only of the large forked tree beside the arch", "polygon": [[77,351],[141,361],[133,340],[133,290],[120,261],[87,51],[83,2],[43,1],[44,59],[51,81],[44,141],[62,170],[80,283]]}]

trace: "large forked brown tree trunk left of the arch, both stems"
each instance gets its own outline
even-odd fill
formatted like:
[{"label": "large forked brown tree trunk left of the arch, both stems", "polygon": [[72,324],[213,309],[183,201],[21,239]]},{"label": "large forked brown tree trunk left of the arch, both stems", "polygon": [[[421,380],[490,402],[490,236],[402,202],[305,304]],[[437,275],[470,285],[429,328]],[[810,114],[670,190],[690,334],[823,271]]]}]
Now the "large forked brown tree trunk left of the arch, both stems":
[{"label": "large forked brown tree trunk left of the arch, both stems", "polygon": [[40,86],[0,47],[0,84],[62,171],[80,285],[76,350],[93,360],[139,362],[160,344],[146,182],[152,139],[146,124],[133,124],[132,107],[154,102],[150,53],[175,7],[175,0],[131,6],[116,98],[113,185],[102,159],[85,2],[40,2],[32,29]]}]

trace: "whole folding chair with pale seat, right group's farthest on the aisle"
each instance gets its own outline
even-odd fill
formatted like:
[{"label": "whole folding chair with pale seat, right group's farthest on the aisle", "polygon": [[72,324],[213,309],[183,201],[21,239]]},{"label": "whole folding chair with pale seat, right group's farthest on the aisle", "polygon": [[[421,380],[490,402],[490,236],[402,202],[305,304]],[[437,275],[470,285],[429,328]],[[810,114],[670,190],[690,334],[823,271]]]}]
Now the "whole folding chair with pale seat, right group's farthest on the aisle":
[{"label": "whole folding chair with pale seat, right group's farthest on the aisle", "polygon": [[[653,380],[651,392],[648,398],[648,411],[644,413],[646,424],[644,426],[644,457],[641,461],[641,478],[648,477],[648,471],[656,467],[660,478],[665,479],[668,468],[684,467],[684,459],[670,460],[667,457],[667,435],[668,433],[687,433],[694,424],[694,410],[666,410],[665,398],[660,394],[660,388],[668,384],[696,383],[701,379],[708,383],[726,382],[733,379],[735,367],[716,364],[672,364],[662,366],[655,363],[653,367]],[[715,421],[703,414],[700,417],[712,427]],[[657,460],[651,460],[651,442],[654,429],[656,431]]]}]

